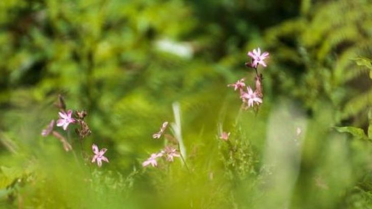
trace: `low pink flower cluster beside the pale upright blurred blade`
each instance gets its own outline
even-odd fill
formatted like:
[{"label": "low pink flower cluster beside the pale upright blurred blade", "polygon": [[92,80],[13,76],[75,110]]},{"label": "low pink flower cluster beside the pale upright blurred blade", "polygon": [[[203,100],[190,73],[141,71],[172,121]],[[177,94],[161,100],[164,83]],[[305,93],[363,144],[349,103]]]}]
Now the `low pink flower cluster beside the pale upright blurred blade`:
[{"label": "low pink flower cluster beside the pale upright blurred blade", "polygon": [[[164,134],[167,126],[168,126],[168,122],[164,122],[160,131],[153,134],[152,138],[160,139],[161,136]],[[172,138],[172,137],[168,136],[168,138]],[[170,142],[174,142],[174,141],[176,141],[176,140],[170,140]],[[147,167],[147,166],[151,165],[152,167],[156,167],[158,159],[163,158],[168,162],[173,162],[175,157],[179,158],[180,156],[181,156],[181,154],[177,151],[176,148],[174,148],[173,145],[168,145],[168,146],[165,146],[164,149],[162,149],[160,152],[152,153],[150,158],[148,158],[146,161],[144,161],[142,163],[142,166]]]}]

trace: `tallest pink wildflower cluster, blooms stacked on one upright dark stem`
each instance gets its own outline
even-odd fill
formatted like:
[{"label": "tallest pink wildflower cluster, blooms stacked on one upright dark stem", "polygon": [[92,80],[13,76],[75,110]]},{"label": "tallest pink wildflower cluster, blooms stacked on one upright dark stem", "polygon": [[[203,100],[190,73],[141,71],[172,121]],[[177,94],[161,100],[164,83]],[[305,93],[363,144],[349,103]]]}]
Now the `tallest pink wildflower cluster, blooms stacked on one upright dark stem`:
[{"label": "tallest pink wildflower cluster, blooms stacked on one upright dark stem", "polygon": [[[257,68],[259,65],[266,67],[267,64],[264,62],[265,59],[269,58],[269,53],[265,51],[261,54],[261,49],[253,49],[253,51],[249,51],[247,54],[251,58],[250,63],[246,63],[247,67],[251,67],[255,70],[255,85],[256,89],[253,89],[250,86],[247,86],[245,82],[245,78],[238,80],[234,84],[227,85],[228,87],[234,87],[234,91],[239,90],[240,98],[243,101],[243,105],[245,108],[251,108],[259,106],[262,103],[262,74],[258,74]],[[246,90],[244,89],[246,87]]]}]

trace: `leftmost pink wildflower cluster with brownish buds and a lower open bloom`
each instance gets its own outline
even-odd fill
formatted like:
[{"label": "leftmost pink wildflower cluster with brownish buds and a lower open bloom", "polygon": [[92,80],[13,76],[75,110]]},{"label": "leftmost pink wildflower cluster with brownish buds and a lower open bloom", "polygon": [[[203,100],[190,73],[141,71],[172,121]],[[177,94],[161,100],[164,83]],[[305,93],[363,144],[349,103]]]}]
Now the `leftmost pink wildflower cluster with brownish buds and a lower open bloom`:
[{"label": "leftmost pink wildflower cluster with brownish buds and a lower open bloom", "polygon": [[[87,115],[86,111],[75,111],[75,117],[73,117],[73,111],[67,110],[66,111],[66,105],[63,97],[60,95],[58,98],[58,102],[56,106],[60,109],[58,116],[59,119],[57,122],[55,120],[51,120],[47,127],[42,130],[41,136],[47,137],[49,135],[54,136],[55,138],[59,139],[61,143],[63,144],[63,147],[66,151],[72,150],[71,144],[68,142],[66,137],[64,137],[62,134],[57,132],[57,130],[54,130],[55,125],[58,127],[62,127],[64,131],[68,130],[68,126],[73,123],[78,124],[78,128],[75,129],[75,133],[79,136],[79,140],[83,140],[85,137],[89,136],[91,134],[91,130],[88,126],[88,124],[85,122],[84,118]],[[102,166],[102,161],[109,162],[109,159],[103,156],[103,154],[107,151],[106,148],[102,148],[101,150],[98,149],[98,146],[93,144],[93,158],[92,163],[97,162],[98,166]],[[82,153],[83,154],[83,153]]]}]

